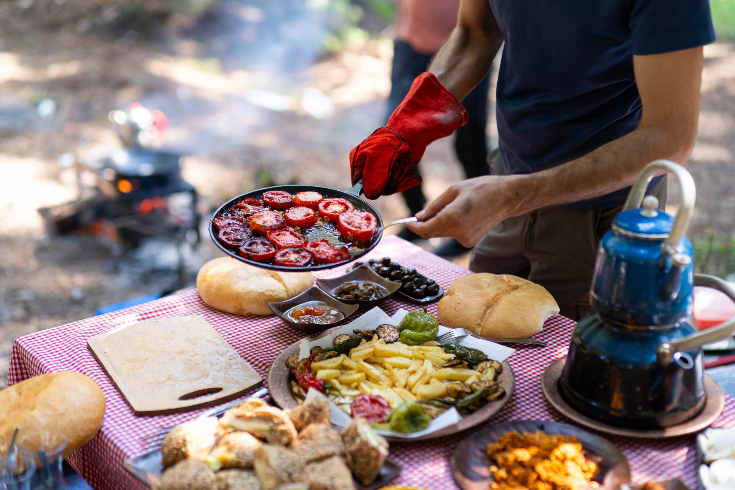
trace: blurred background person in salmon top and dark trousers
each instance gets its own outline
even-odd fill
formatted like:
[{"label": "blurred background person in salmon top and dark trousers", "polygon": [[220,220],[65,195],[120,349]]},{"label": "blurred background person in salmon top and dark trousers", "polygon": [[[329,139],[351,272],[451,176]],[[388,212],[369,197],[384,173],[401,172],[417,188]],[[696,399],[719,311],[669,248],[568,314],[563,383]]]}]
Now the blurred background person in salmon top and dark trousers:
[{"label": "blurred background person in salmon top and dark trousers", "polygon": [[[400,0],[396,14],[396,35],[393,41],[393,63],[390,73],[390,96],[386,120],[401,104],[411,90],[414,79],[429,68],[431,59],[456,26],[459,0]],[[465,97],[467,124],[454,133],[454,149],[468,178],[487,176],[487,90],[490,76],[482,81]],[[417,167],[416,167],[417,168]],[[411,215],[416,215],[424,206],[426,198],[421,184],[401,193]],[[408,228],[398,236],[410,241],[420,237]],[[455,239],[444,242],[435,253],[440,256],[457,256],[470,250]]]}]

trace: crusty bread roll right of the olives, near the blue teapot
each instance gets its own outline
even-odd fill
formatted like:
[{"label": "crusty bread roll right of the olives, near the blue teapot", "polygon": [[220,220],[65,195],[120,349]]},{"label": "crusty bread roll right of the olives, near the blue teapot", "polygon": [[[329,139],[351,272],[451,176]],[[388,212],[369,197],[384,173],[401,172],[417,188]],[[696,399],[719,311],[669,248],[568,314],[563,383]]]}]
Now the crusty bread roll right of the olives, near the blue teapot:
[{"label": "crusty bread roll right of the olives, near the blue teapot", "polygon": [[467,328],[476,335],[525,339],[559,313],[551,294],[515,275],[478,273],[454,281],[437,305],[437,317],[448,328]]}]

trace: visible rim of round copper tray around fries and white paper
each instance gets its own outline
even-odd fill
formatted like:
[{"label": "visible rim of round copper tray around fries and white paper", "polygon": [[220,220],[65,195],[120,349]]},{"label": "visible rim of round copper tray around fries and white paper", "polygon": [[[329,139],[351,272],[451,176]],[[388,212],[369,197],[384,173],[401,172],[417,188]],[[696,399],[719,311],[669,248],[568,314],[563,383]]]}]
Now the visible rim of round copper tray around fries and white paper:
[{"label": "visible rim of round copper tray around fries and white paper", "polygon": [[[330,328],[328,331],[321,332],[320,334],[307,336],[306,340],[313,342],[323,336],[331,334],[337,330],[337,328],[340,327]],[[299,342],[295,342],[290,345],[290,347],[287,347],[280,356],[276,357],[276,360],[273,361],[273,365],[270,367],[270,371],[268,371],[268,390],[270,391],[270,397],[273,398],[273,401],[275,401],[278,406],[284,410],[296,408],[298,406],[298,403],[296,403],[296,400],[293,397],[293,393],[291,393],[291,383],[288,378],[289,370],[286,367],[286,359],[293,356],[293,354],[298,354]],[[510,397],[512,397],[515,377],[508,361],[503,361],[503,370],[501,371],[501,374],[498,375],[498,383],[505,390],[503,396],[494,402],[486,403],[478,411],[474,411],[472,414],[462,417],[462,420],[460,420],[456,425],[450,425],[442,430],[437,430],[436,432],[432,432],[430,434],[426,434],[426,436],[417,437],[415,439],[396,439],[392,437],[387,437],[386,439],[390,442],[426,441],[429,439],[450,436],[452,434],[462,432],[462,430],[467,430],[481,424],[482,422],[486,422],[492,416],[497,414],[498,411],[501,411],[501,408],[503,408],[503,406],[505,406],[510,400]]]}]

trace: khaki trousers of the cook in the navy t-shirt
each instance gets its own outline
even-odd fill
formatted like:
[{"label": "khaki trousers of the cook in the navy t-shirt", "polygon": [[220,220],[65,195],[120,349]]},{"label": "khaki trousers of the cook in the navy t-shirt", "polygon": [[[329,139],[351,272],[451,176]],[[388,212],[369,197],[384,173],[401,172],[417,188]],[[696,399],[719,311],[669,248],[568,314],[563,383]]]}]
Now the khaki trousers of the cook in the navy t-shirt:
[{"label": "khaki trousers of the cook in the navy t-shirt", "polygon": [[[492,173],[506,173],[497,150],[488,159]],[[659,198],[661,208],[666,205],[666,177],[650,194]],[[592,311],[589,287],[600,238],[621,209],[550,206],[509,218],[480,239],[472,252],[470,270],[518,275],[541,284],[564,316],[579,320]]]}]

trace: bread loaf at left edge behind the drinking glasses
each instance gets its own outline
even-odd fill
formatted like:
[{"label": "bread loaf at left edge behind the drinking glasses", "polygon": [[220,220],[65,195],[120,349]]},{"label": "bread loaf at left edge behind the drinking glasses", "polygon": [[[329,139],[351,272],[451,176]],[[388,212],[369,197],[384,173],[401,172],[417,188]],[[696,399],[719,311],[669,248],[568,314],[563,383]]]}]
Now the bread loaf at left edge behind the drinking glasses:
[{"label": "bread loaf at left edge behind the drinking glasses", "polygon": [[55,430],[66,436],[68,455],[92,439],[102,426],[104,394],[78,372],[36,376],[0,392],[0,444],[36,430]]}]

